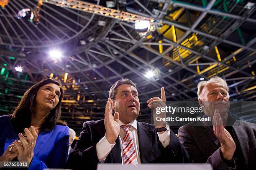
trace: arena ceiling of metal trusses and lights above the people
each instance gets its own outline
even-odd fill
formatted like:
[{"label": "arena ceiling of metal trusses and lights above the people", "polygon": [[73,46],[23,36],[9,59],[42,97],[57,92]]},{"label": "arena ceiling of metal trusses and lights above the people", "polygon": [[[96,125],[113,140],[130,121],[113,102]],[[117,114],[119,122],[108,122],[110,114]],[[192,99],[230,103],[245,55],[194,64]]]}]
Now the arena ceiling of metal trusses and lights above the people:
[{"label": "arena ceiling of metal trusses and lights above the people", "polygon": [[[139,120],[146,122],[146,100],[160,96],[161,87],[166,100],[197,100],[197,83],[212,76],[228,82],[230,101],[256,100],[253,1],[113,2],[110,10],[106,0],[43,0],[38,21],[17,18],[22,9],[36,11],[37,0],[0,0],[0,112],[11,112],[31,85],[49,77],[61,82],[62,119],[76,131],[104,117],[108,90],[123,77],[136,83]],[[115,17],[122,12],[130,18]],[[135,30],[136,17],[154,20],[151,29]],[[49,51],[56,49],[62,56],[53,59]]]}]

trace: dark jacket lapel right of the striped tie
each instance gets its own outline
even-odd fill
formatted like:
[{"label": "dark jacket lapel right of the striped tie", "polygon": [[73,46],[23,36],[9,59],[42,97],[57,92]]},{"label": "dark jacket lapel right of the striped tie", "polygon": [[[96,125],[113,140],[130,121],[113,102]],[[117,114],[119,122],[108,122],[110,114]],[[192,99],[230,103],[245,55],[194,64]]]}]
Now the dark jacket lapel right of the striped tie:
[{"label": "dark jacket lapel right of the striped tie", "polygon": [[149,163],[152,160],[153,131],[140,122],[137,122],[137,129],[141,163]]}]

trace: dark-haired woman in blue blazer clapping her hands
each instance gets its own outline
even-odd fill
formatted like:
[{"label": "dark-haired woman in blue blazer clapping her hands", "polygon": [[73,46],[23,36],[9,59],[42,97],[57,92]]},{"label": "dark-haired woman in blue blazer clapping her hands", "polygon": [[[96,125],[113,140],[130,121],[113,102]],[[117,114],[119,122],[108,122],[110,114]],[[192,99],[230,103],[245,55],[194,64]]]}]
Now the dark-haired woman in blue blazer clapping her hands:
[{"label": "dark-haired woman in blue blazer clapping her hands", "polygon": [[64,91],[59,86],[51,79],[36,83],[12,115],[0,116],[0,161],[26,162],[31,170],[65,167],[69,128],[60,120]]}]

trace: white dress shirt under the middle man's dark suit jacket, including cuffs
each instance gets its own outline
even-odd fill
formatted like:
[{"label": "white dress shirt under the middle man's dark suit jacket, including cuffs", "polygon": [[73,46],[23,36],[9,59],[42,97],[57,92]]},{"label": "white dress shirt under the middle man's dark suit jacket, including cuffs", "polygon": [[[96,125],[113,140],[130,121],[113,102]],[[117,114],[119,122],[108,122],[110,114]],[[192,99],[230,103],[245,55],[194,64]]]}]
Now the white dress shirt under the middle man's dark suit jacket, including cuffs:
[{"label": "white dress shirt under the middle man's dark suit jacket, including cuffs", "polygon": [[[123,122],[120,120],[118,121],[118,124],[124,125]],[[139,142],[138,142],[138,129],[137,129],[137,120],[134,120],[133,122],[130,122],[128,125],[131,125],[132,127],[129,128],[133,135],[133,143],[136,151],[136,156],[137,156],[137,161],[138,163],[141,163],[141,158],[140,158],[140,150],[139,150]],[[123,137],[125,135],[125,132],[122,128],[120,128],[120,133],[119,133],[119,141],[120,141],[120,150],[121,150],[121,160],[123,164]],[[170,130],[166,130],[164,133],[160,134],[157,133],[160,142],[164,147],[169,145],[170,143]],[[112,148],[115,146],[114,144],[111,144],[108,142],[106,135],[101,138],[101,140],[96,144],[96,151],[97,151],[97,156],[100,161],[100,163],[104,163],[105,159],[107,158],[108,154],[112,150]]]}]

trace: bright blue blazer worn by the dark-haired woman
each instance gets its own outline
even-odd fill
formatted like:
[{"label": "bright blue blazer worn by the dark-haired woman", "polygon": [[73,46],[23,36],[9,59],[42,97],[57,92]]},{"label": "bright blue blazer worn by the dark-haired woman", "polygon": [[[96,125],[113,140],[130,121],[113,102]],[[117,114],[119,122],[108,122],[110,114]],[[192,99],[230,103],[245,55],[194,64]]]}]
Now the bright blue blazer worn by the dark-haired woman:
[{"label": "bright blue blazer worn by the dark-haired woman", "polygon": [[[10,115],[0,116],[0,155],[19,139],[15,133]],[[50,132],[40,132],[34,148],[34,157],[29,170],[44,168],[65,168],[69,149],[69,127],[56,125]]]}]

